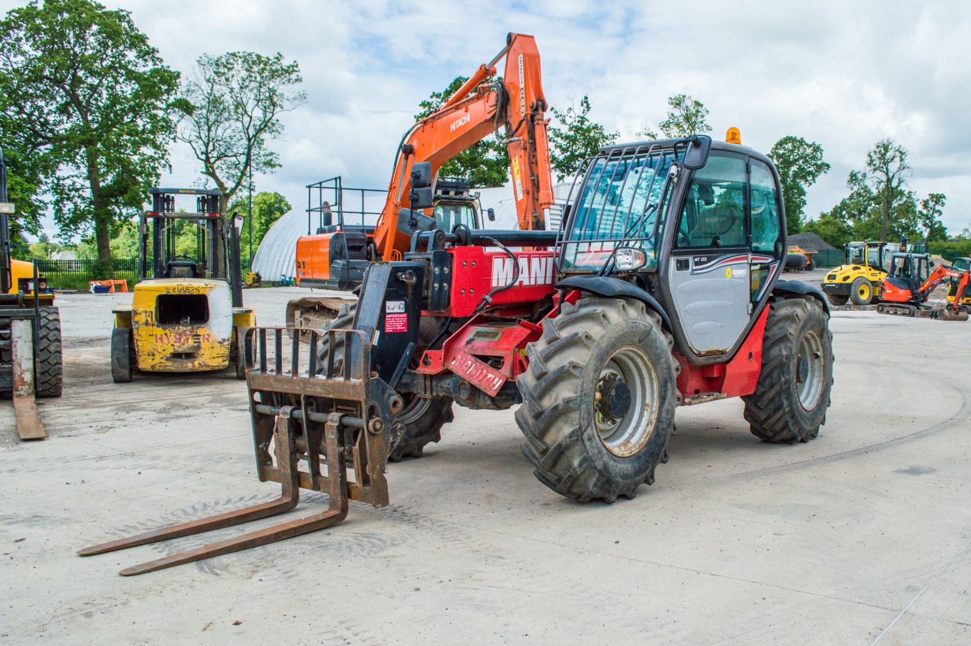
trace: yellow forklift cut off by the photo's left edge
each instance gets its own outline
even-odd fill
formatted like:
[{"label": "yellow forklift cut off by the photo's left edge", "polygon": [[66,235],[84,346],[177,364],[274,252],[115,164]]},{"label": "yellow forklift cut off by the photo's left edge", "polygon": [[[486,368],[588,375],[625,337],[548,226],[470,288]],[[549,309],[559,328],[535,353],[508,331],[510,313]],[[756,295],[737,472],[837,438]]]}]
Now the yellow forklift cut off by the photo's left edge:
[{"label": "yellow forklift cut off by the photo's left edge", "polygon": [[33,263],[11,258],[7,167],[0,150],[0,396],[14,400],[20,439],[47,437],[35,397],[60,397],[60,314]]}]

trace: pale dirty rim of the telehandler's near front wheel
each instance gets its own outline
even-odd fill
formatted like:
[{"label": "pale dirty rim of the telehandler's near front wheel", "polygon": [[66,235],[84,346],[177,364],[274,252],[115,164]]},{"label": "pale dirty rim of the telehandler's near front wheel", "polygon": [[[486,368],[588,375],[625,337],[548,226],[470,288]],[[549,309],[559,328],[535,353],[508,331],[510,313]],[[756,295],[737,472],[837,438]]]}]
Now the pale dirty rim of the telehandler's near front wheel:
[{"label": "pale dirty rim of the telehandler's near front wheel", "polygon": [[653,435],[659,400],[659,379],[648,353],[637,345],[615,350],[594,390],[593,424],[604,447],[619,458],[644,448]]}]

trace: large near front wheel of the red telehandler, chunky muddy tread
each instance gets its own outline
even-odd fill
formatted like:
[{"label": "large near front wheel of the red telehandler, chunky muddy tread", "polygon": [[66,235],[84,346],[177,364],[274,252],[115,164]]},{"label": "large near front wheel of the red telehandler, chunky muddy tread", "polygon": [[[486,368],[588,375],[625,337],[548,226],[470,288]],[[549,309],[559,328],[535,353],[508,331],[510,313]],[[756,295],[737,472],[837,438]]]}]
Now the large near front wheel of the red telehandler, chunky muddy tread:
[{"label": "large near front wheel of the red telehandler, chunky muddy tread", "polygon": [[583,298],[543,320],[526,346],[516,411],[540,482],[582,502],[632,499],[653,484],[679,403],[673,344],[661,317],[633,299]]}]

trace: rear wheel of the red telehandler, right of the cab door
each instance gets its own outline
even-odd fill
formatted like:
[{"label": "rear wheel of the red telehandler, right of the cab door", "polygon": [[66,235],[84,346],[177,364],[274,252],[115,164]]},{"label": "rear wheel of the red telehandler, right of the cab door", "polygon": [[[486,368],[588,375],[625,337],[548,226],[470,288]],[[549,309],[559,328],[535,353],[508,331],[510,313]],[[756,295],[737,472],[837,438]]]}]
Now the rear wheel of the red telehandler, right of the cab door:
[{"label": "rear wheel of the red telehandler, right of the cab door", "polygon": [[833,335],[815,299],[770,306],[755,392],[742,398],[754,436],[808,442],[820,435],[833,386]]}]

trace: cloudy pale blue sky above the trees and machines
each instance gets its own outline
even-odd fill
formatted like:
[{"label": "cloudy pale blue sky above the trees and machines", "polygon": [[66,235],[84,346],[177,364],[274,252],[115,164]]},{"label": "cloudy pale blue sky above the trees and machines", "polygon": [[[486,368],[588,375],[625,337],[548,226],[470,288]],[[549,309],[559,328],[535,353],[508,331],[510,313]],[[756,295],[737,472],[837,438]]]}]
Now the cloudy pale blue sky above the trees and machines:
[{"label": "cloudy pale blue sky above the trees and machines", "polygon": [[[283,168],[254,178],[306,209],[307,183],[385,187],[394,147],[421,99],[532,34],[543,85],[559,108],[589,94],[593,116],[622,141],[686,92],[768,151],[786,135],[819,142],[832,165],[808,212],[846,193],[850,170],[889,137],[907,146],[919,194],[948,196],[944,222],[971,223],[971,3],[954,2],[313,2],[102,0],[131,12],[174,69],[201,53],[281,51],[300,63],[307,105],[285,115]],[[21,3],[0,1],[4,11]],[[197,181],[173,150],[164,185]]]}]

